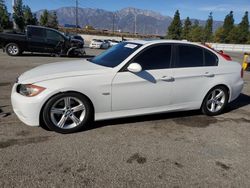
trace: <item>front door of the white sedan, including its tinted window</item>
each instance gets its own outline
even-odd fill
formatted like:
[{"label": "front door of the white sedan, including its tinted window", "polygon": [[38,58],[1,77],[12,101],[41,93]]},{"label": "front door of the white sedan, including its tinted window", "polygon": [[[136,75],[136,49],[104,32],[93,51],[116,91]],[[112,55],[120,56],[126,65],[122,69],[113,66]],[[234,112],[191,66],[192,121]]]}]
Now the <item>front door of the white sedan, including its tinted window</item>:
[{"label": "front door of the white sedan, including its tinted window", "polygon": [[112,111],[164,107],[171,104],[172,45],[159,44],[136,55],[139,73],[118,72],[112,82]]}]

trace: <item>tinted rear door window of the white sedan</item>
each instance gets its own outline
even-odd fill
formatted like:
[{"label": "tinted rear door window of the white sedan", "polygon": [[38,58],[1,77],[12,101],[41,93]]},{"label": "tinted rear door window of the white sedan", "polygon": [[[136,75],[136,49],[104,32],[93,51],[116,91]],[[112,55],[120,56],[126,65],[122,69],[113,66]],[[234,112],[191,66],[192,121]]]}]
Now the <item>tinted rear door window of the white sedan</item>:
[{"label": "tinted rear door window of the white sedan", "polygon": [[203,49],[192,45],[179,45],[177,67],[202,67]]}]

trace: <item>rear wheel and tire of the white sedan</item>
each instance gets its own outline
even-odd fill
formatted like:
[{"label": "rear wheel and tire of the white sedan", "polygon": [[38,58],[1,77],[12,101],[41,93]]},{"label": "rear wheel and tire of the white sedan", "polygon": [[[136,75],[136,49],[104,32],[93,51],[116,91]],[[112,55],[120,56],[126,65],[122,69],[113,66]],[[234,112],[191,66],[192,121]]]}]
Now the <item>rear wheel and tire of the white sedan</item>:
[{"label": "rear wheel and tire of the white sedan", "polygon": [[202,113],[208,116],[216,116],[223,112],[228,104],[229,93],[224,86],[216,86],[206,95],[202,103]]}]

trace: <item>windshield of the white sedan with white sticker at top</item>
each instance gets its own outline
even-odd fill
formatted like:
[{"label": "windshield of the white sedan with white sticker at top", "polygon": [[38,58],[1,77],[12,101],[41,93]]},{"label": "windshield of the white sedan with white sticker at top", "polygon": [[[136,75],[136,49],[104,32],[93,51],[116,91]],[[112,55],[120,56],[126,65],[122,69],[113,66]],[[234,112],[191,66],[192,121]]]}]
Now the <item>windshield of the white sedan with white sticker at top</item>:
[{"label": "windshield of the white sedan with white sticker at top", "polygon": [[101,66],[114,68],[141,46],[141,44],[122,42],[89,61]]}]

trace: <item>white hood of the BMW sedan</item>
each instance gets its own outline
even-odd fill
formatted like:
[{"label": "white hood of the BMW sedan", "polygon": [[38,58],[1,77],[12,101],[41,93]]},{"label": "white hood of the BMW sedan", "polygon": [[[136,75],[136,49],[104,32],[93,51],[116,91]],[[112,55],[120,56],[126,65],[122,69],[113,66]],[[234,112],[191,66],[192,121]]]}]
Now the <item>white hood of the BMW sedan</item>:
[{"label": "white hood of the BMW sedan", "polygon": [[111,68],[96,65],[87,60],[50,63],[23,73],[18,78],[18,82],[22,84],[32,84],[64,77],[102,74],[110,69]]}]

